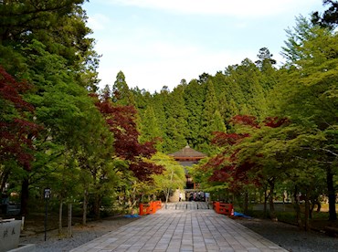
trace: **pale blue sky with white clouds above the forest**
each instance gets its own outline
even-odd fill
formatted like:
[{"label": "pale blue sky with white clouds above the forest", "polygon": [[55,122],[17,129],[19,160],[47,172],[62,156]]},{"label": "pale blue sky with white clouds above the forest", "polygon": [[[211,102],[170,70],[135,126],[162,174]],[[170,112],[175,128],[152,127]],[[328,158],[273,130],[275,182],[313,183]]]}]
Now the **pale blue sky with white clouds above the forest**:
[{"label": "pale blue sky with white clouds above the forest", "polygon": [[285,30],[325,7],[322,0],[90,0],[84,9],[101,55],[100,88],[122,71],[129,88],[153,93],[256,61],[261,47],[281,64]]}]

